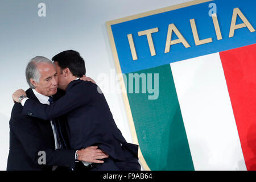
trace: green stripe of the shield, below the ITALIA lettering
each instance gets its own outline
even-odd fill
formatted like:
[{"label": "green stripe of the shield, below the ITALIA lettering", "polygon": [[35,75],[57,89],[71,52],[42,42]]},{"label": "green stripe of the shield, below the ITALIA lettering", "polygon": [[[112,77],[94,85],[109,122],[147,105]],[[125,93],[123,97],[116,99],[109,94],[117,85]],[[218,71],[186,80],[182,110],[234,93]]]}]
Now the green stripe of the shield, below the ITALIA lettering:
[{"label": "green stripe of the shield, below the ITALIA lettering", "polygon": [[[159,97],[127,93],[139,146],[151,170],[194,170],[170,64],[133,73],[159,73]],[[127,90],[129,90],[129,74]],[[131,81],[131,80],[130,80]],[[133,88],[135,88],[135,81]]]}]

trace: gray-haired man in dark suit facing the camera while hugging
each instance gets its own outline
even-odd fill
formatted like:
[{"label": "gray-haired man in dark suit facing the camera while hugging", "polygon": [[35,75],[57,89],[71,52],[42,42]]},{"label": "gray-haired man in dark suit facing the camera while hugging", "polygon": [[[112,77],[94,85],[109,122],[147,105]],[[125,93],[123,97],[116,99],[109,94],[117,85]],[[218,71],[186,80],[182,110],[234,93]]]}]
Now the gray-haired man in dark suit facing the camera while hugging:
[{"label": "gray-haired man in dark suit facing the camera while hugging", "polygon": [[[30,89],[26,95],[38,103],[47,104],[49,96],[57,92],[57,73],[52,62],[37,56],[28,63],[26,77]],[[49,104],[49,103],[48,103]],[[22,106],[15,103],[10,119],[10,151],[7,171],[52,171],[75,168],[75,154],[86,162],[108,157],[97,146],[80,151],[68,149],[58,139],[59,133],[53,121],[22,114]],[[64,119],[64,118],[59,118]],[[63,137],[65,133],[63,133]],[[68,142],[67,142],[68,143]],[[99,163],[102,161],[98,160]]]}]

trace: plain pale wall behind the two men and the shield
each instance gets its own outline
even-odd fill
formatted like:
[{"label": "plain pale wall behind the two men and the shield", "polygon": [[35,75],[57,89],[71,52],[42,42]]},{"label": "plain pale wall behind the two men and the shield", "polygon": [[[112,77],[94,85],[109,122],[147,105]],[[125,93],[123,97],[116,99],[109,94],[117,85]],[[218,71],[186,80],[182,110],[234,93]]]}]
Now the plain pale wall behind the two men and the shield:
[{"label": "plain pale wall behind the two men and the shield", "polygon": [[[0,2],[0,170],[6,170],[9,154],[11,94],[28,88],[25,68],[37,55],[51,59],[67,49],[85,59],[86,76],[102,84],[99,75],[115,72],[105,22],[188,0],[2,0]],[[46,16],[38,16],[39,3]],[[110,80],[111,82],[111,80]],[[115,85],[117,85],[115,81]],[[102,88],[117,126],[127,142],[133,143],[122,94]]]}]

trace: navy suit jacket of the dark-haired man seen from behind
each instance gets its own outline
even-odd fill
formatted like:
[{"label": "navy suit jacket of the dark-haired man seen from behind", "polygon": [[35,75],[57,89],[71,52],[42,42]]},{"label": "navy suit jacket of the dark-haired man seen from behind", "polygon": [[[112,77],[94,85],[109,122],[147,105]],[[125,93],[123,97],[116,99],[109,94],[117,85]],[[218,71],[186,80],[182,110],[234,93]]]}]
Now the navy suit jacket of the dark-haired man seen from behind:
[{"label": "navy suit jacket of the dark-haired man seen from behind", "polygon": [[65,95],[53,104],[43,105],[29,99],[22,113],[44,120],[66,113],[72,149],[97,145],[118,163],[120,169],[140,169],[138,145],[127,143],[123,138],[104,94],[99,92],[92,82],[74,80],[67,86]]}]

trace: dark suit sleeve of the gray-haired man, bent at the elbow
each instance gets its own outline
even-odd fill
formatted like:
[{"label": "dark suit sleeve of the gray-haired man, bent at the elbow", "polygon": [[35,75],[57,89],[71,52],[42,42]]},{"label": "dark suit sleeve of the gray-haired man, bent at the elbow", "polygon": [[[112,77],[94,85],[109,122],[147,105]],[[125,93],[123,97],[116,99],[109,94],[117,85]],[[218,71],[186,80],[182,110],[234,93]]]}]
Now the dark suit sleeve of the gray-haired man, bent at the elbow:
[{"label": "dark suit sleeve of the gray-haired man, bent at the elbow", "polygon": [[38,131],[31,117],[22,114],[14,114],[10,122],[10,130],[16,135],[27,155],[34,163],[39,164],[39,158],[45,154],[47,166],[75,166],[75,150],[52,150],[44,143],[43,136]]}]

